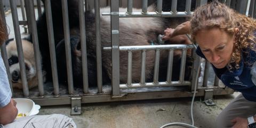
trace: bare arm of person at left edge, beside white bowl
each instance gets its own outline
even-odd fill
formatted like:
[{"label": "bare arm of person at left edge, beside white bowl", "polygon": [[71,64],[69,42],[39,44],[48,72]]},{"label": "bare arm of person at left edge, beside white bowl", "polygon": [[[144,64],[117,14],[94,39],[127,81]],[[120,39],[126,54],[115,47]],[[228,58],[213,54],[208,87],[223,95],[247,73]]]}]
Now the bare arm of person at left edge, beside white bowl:
[{"label": "bare arm of person at left edge, beside white bowl", "polygon": [[16,104],[17,103],[11,99],[11,101],[6,106],[0,108],[0,124],[9,124],[16,118],[18,114]]}]

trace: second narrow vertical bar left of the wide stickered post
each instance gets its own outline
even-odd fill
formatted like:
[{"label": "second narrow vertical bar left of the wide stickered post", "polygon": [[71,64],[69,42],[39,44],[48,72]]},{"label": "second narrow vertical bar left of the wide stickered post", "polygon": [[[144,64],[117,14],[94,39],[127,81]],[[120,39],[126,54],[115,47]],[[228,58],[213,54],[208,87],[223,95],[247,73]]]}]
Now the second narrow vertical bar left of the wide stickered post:
[{"label": "second narrow vertical bar left of the wide stickered post", "polygon": [[81,52],[82,52],[82,68],[83,68],[83,86],[84,93],[89,92],[88,71],[87,71],[87,52],[86,52],[86,35],[85,35],[85,18],[84,18],[84,0],[79,1],[79,25],[81,38]]}]

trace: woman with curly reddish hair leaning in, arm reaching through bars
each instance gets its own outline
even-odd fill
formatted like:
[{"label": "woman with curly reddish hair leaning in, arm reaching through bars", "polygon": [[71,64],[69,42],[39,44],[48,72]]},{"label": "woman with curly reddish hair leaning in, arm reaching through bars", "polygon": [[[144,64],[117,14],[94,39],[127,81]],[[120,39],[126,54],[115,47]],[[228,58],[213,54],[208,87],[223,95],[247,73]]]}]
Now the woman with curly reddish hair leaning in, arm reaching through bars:
[{"label": "woman with curly reddish hair leaning in, arm reaching through bars", "polygon": [[190,21],[165,30],[164,40],[191,34],[226,86],[242,94],[218,115],[216,127],[256,127],[256,21],[224,4],[198,7]]}]

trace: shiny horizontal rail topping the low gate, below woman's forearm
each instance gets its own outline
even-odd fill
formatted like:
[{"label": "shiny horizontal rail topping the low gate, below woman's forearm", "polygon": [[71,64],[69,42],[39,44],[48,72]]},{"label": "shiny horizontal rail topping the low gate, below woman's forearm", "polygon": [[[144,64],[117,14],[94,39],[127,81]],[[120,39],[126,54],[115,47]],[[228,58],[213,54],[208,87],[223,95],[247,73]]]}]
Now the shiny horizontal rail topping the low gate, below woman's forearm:
[{"label": "shiny horizontal rail topping the low gate, below woman's forearm", "polygon": [[[119,51],[141,51],[141,50],[169,50],[169,49],[191,49],[193,45],[171,44],[171,45],[140,45],[140,46],[119,46]],[[103,47],[103,50],[112,50],[112,47]]]}]

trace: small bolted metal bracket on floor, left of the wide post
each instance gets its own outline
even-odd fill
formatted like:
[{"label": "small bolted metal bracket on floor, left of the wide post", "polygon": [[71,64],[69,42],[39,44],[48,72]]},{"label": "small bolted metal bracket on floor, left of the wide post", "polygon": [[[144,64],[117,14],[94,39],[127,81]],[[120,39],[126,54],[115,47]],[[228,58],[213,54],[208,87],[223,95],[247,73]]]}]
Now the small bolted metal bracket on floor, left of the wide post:
[{"label": "small bolted metal bracket on floor, left of the wide post", "polygon": [[71,115],[81,115],[81,97],[71,98]]}]

